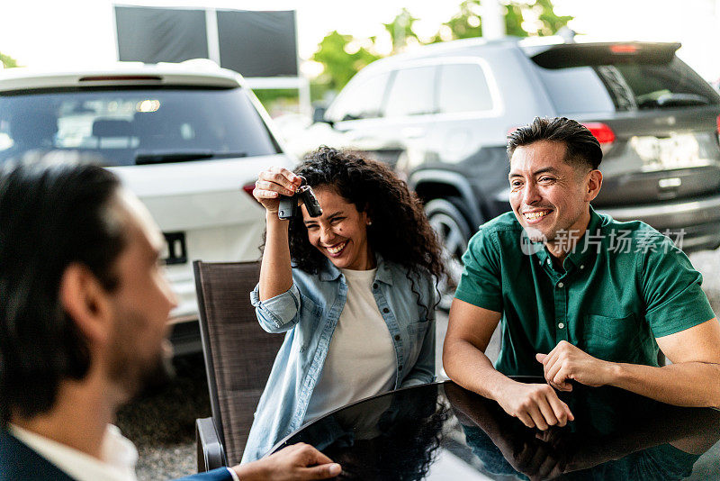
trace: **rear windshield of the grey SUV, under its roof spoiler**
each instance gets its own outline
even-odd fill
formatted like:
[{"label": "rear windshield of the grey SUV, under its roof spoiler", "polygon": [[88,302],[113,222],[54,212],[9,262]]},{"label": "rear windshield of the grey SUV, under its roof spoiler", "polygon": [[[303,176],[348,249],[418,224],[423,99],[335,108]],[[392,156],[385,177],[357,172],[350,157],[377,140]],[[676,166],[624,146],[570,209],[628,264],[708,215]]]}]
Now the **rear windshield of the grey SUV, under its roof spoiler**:
[{"label": "rear windshield of the grey SUV, under its roof spoiler", "polygon": [[[577,63],[577,62],[576,62]],[[533,64],[558,113],[603,113],[720,103],[713,89],[677,57],[545,68]]]}]

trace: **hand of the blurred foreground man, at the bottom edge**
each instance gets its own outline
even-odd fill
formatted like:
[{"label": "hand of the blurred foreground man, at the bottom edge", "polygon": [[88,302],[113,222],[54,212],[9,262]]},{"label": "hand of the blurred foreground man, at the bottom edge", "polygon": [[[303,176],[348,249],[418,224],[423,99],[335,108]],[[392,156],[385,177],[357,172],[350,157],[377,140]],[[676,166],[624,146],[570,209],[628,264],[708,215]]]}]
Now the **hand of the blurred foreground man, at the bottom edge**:
[{"label": "hand of the blurred foreground man, at the bottom edge", "polygon": [[327,479],[338,476],[340,465],[322,454],[310,444],[298,443],[277,451],[267,458],[239,465],[232,469],[242,481],[272,479],[290,481]]}]

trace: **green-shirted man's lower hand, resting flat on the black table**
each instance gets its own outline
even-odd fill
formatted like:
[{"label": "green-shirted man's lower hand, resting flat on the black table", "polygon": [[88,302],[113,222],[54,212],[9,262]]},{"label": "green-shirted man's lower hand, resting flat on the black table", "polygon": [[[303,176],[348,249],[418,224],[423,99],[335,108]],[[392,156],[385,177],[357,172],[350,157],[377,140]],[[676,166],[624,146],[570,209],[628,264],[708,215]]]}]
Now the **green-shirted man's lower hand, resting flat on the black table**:
[{"label": "green-shirted man's lower hand, resting flat on the black table", "polygon": [[552,386],[546,384],[523,384],[512,381],[497,396],[500,407],[517,417],[528,428],[545,431],[550,426],[564,426],[575,417],[563,403]]}]

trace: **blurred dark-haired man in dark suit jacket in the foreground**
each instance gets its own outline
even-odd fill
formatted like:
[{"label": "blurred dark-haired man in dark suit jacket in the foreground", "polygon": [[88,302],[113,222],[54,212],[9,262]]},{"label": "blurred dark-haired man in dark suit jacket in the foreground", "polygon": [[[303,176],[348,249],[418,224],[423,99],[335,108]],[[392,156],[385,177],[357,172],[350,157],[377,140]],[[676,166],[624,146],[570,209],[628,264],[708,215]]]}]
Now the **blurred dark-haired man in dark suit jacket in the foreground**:
[{"label": "blurred dark-haired man in dark suit jacket in the foreground", "polygon": [[[133,481],[137,450],[112,426],[164,373],[175,297],[163,237],[137,197],[94,166],[0,175],[0,481]],[[308,445],[190,479],[322,479]]]}]

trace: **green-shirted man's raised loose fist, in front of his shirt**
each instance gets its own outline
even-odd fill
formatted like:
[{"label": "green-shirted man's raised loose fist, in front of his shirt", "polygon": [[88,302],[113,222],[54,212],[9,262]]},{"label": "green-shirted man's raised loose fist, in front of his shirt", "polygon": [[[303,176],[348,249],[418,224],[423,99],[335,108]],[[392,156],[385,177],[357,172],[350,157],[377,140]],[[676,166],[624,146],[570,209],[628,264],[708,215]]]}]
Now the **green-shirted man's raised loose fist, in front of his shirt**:
[{"label": "green-shirted man's raised loose fist, in front of his shirt", "polygon": [[548,354],[536,354],[545,368],[545,380],[559,391],[572,391],[570,380],[586,386],[604,386],[609,383],[612,363],[561,340]]}]

